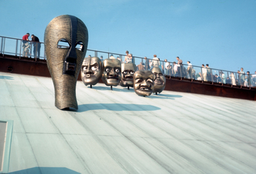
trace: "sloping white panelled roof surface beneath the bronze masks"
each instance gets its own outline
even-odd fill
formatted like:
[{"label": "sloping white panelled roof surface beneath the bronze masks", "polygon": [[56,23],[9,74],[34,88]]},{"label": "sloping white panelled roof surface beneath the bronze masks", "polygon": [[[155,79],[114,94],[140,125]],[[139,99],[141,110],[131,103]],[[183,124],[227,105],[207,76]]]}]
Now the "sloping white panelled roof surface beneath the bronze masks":
[{"label": "sloping white panelled roof surface beneath the bronze masks", "polygon": [[55,107],[51,78],[0,73],[14,121],[10,173],[256,173],[256,103],[77,82],[79,110]]}]

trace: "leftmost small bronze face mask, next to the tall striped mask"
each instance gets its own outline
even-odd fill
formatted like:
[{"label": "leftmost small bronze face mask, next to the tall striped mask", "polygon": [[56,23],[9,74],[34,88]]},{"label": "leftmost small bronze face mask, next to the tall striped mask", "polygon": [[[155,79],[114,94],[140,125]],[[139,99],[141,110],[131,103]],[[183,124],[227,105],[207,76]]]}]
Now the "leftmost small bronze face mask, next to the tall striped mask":
[{"label": "leftmost small bronze face mask, next to the tall striped mask", "polygon": [[101,60],[98,57],[85,57],[81,68],[81,78],[85,86],[98,83],[102,74],[101,69]]}]

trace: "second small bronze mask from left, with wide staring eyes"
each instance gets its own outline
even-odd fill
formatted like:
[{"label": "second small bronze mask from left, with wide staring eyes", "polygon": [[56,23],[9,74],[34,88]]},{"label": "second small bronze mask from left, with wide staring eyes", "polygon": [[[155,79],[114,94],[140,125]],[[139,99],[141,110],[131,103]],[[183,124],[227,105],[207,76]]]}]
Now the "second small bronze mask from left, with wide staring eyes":
[{"label": "second small bronze mask from left, with wide staring eyes", "polygon": [[102,63],[102,81],[107,86],[117,86],[121,80],[121,62],[118,59],[105,59]]}]

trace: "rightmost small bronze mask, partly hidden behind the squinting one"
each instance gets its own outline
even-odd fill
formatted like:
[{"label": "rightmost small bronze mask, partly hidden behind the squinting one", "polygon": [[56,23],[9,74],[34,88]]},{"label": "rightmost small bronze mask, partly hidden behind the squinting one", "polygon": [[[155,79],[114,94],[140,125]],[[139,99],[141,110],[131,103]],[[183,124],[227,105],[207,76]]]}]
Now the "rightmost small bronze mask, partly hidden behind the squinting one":
[{"label": "rightmost small bronze mask, partly hidden behind the squinting one", "polygon": [[163,72],[160,68],[152,68],[152,73],[154,74],[154,90],[153,93],[161,93],[166,87],[166,77],[164,77]]}]

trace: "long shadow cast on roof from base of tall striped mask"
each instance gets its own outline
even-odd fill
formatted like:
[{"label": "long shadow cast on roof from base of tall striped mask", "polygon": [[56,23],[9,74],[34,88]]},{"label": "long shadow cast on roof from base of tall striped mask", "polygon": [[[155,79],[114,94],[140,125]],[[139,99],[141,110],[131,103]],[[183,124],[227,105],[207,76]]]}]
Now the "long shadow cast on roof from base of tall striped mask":
[{"label": "long shadow cast on roof from base of tall striped mask", "polygon": [[154,111],[160,110],[160,107],[153,105],[135,105],[135,104],[122,104],[122,103],[96,103],[79,105],[78,112],[89,110],[111,110],[111,111]]}]

